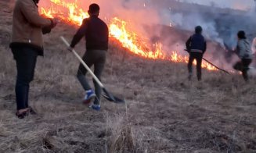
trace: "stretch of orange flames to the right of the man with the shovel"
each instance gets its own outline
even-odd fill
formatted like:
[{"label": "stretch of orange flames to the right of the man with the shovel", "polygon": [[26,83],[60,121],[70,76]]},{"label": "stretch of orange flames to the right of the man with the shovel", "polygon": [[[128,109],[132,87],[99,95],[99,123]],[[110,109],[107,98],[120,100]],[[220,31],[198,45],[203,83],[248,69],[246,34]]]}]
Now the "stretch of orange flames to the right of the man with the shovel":
[{"label": "stretch of orange flames to the right of the man with the shovel", "polygon": [[[162,49],[161,43],[153,44],[153,48],[155,49],[149,50],[147,48],[146,41],[142,41],[141,39],[138,41],[138,34],[129,32],[126,26],[127,22],[115,17],[110,23],[110,36],[115,37],[121,42],[121,44],[123,44],[124,48],[128,48],[129,51],[134,54],[147,59],[165,59],[172,62],[189,62],[189,57],[186,55],[178,55],[177,52],[171,52],[171,55],[168,55]],[[197,62],[193,62],[193,64],[197,64]],[[217,70],[207,62],[203,62],[202,67],[209,70]]]}]

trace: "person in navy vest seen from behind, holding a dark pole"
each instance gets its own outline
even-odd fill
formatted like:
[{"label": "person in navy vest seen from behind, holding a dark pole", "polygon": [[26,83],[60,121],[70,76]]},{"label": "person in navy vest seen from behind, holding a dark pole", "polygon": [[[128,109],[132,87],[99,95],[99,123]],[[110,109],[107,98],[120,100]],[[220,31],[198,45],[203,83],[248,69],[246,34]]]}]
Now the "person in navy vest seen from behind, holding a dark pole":
[{"label": "person in navy vest seen from behind, holding a dark pole", "polygon": [[186,41],[186,49],[189,52],[189,63],[188,63],[188,69],[189,69],[189,80],[191,80],[193,76],[193,60],[197,60],[197,80],[202,79],[202,73],[201,73],[201,65],[202,65],[202,59],[204,52],[206,52],[207,49],[207,43],[204,39],[204,36],[202,35],[202,27],[197,26],[195,28],[195,33],[193,36],[189,37],[189,40]]}]

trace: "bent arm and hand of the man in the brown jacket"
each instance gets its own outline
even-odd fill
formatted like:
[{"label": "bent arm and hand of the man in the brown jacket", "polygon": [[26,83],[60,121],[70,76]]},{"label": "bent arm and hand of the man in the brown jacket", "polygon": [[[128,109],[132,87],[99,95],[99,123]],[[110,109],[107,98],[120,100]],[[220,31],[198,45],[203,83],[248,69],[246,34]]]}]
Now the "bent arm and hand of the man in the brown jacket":
[{"label": "bent arm and hand of the man in the brown jacket", "polygon": [[40,16],[33,1],[23,0],[20,2],[20,11],[26,20],[36,27],[54,27],[53,20]]}]

